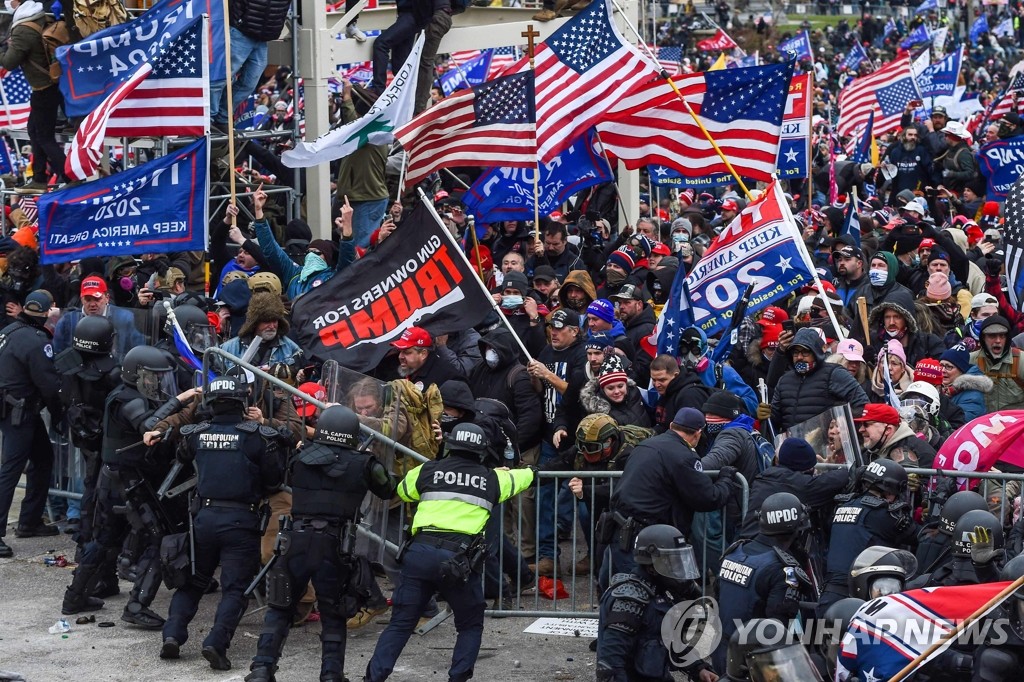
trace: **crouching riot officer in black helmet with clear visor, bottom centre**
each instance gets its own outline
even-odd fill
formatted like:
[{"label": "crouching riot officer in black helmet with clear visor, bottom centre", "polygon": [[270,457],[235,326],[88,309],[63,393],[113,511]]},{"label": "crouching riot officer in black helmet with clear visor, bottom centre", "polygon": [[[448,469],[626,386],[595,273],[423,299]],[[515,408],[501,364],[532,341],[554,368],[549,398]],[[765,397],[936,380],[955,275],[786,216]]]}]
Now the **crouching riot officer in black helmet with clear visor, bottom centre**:
[{"label": "crouching riot officer in black helmet with clear visor, bottom centre", "polygon": [[702,659],[679,668],[662,639],[662,622],[672,606],[700,596],[693,548],[677,528],[657,523],[637,535],[633,558],[633,570],[615,573],[601,596],[598,682],[671,680],[672,670],[700,682],[717,680]]}]

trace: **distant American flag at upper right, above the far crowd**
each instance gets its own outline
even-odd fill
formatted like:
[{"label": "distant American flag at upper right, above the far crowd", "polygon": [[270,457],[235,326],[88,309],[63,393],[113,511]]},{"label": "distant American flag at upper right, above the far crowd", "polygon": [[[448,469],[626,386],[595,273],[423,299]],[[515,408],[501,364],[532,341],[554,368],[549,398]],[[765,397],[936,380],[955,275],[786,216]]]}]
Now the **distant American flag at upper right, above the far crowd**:
[{"label": "distant American flag at upper right, above the far crowd", "polygon": [[910,74],[910,56],[903,54],[872,74],[856,78],[839,94],[839,133],[852,135],[867,124],[874,112],[874,134],[883,135],[899,127],[899,119],[918,87]]}]

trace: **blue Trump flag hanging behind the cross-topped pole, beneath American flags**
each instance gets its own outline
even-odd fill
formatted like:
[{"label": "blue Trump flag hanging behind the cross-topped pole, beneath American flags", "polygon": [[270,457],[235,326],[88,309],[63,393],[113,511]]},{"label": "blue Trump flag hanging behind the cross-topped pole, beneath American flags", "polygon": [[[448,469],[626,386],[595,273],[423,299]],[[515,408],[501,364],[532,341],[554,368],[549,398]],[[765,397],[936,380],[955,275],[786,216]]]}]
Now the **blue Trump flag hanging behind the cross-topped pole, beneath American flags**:
[{"label": "blue Trump flag hanging behind the cross-topped pole, beneath American flags", "polygon": [[[540,168],[541,215],[551,213],[581,189],[612,178],[604,158],[595,148],[593,129]],[[526,168],[490,169],[463,197],[467,213],[481,222],[531,220],[534,172]]]}]

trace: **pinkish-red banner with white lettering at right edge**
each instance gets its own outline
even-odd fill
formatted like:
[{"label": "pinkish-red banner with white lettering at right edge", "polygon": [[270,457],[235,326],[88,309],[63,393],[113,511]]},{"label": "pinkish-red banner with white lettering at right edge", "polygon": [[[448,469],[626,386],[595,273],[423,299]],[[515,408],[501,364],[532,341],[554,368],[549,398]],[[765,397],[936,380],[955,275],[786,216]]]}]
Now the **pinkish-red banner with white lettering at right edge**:
[{"label": "pinkish-red banner with white lettering at right edge", "polygon": [[[1002,410],[968,422],[935,457],[936,469],[988,471],[996,462],[1024,467],[1024,410]],[[964,479],[958,481],[962,484]]]}]

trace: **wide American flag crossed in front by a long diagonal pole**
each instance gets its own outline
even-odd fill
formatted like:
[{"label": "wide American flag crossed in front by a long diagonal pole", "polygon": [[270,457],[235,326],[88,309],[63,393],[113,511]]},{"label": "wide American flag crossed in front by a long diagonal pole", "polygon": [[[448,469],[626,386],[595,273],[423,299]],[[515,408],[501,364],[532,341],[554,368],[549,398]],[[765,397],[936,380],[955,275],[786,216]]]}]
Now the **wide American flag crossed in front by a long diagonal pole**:
[{"label": "wide American flag crossed in front by a long diagonal pole", "polygon": [[[792,63],[673,78],[683,97],[742,177],[775,171]],[[687,177],[728,173],[668,83],[654,81],[612,106],[601,141],[627,168],[668,166]]]}]

